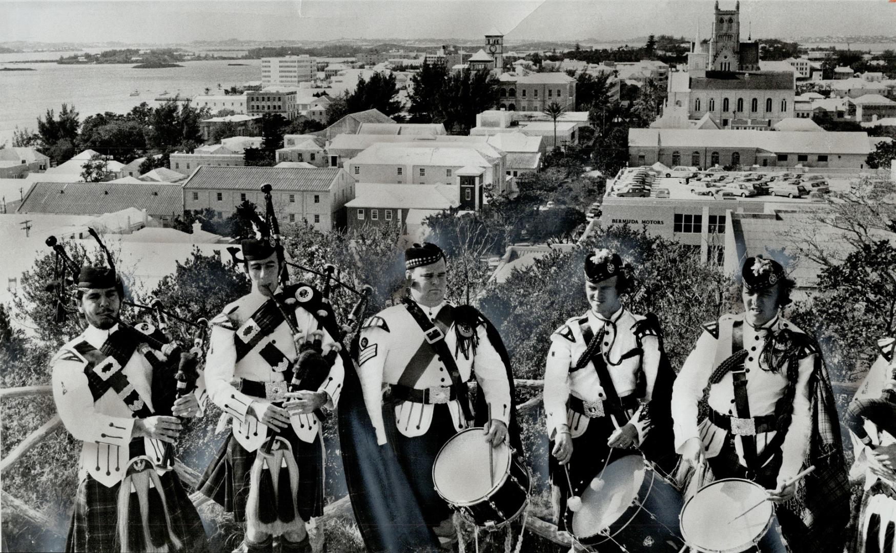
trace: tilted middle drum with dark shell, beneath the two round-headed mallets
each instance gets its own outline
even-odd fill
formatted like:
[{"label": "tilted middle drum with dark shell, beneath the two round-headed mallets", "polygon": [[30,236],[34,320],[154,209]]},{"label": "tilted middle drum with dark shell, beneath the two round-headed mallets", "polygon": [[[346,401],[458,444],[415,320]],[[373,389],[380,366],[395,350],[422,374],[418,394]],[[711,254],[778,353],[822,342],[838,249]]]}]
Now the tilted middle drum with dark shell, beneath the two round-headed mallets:
[{"label": "tilted middle drum with dark shell, beneath the two round-headed mallets", "polygon": [[615,541],[629,551],[671,551],[684,544],[678,535],[682,498],[678,489],[646,464],[641,455],[625,455],[607,464],[582,493],[573,513],[573,535],[582,545]]}]

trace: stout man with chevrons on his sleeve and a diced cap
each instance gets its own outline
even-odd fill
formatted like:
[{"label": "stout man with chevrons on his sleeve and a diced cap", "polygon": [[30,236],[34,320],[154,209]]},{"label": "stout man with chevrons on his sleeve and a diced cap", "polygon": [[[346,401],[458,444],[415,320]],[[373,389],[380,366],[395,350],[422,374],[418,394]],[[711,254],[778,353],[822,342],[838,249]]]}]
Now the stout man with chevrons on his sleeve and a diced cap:
[{"label": "stout man with chevrons on his sleeve and a diced cap", "polygon": [[[456,539],[452,511],[435,491],[433,464],[457,432],[483,426],[483,440],[496,447],[509,427],[510,443],[520,447],[513,379],[497,331],[475,308],[445,300],[446,259],[438,246],[413,244],[405,269],[409,295],[366,319],[359,334],[369,423],[342,435],[352,459],[346,468],[352,506],[374,551],[434,550]],[[472,402],[467,381],[474,375]],[[358,398],[343,403],[349,400]],[[340,412],[350,408],[340,405]],[[373,473],[376,479],[365,478]]]}]

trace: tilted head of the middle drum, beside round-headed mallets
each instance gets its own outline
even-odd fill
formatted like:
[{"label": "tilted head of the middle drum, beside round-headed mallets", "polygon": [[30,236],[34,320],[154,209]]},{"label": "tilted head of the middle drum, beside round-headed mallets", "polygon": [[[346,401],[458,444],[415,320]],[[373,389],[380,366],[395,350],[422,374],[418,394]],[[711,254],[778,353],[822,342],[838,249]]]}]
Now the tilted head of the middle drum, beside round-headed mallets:
[{"label": "tilted head of the middle drum, beside round-headed mallets", "polygon": [[582,508],[573,513],[573,534],[588,538],[619,520],[638,497],[646,472],[641,455],[625,455],[607,464],[598,475],[603,488],[595,491],[589,486],[582,492]]}]

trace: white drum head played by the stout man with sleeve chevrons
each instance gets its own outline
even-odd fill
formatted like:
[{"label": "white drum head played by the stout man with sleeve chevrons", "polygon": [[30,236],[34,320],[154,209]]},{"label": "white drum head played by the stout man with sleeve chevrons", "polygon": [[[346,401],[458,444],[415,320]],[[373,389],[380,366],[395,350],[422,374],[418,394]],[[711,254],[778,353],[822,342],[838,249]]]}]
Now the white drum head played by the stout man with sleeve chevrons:
[{"label": "white drum head played by the stout man with sleeve chevrons", "polygon": [[[492,451],[495,481],[488,470],[488,450]],[[497,488],[510,469],[510,447],[504,442],[492,448],[481,427],[462,430],[445,442],[435,457],[433,482],[445,501],[462,506],[476,503]]]}]

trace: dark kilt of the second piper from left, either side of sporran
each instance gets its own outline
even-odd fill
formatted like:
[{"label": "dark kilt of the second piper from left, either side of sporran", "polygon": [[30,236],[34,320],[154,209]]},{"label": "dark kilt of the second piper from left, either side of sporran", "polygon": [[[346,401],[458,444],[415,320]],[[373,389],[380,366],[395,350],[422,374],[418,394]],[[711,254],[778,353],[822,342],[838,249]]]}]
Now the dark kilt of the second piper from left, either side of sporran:
[{"label": "dark kilt of the second piper from left, either side of sporran", "polygon": [[[270,429],[269,429],[270,431]],[[298,515],[308,521],[323,515],[323,442],[321,432],[314,441],[306,443],[296,436],[290,426],[280,432],[292,446],[298,466]],[[202,474],[198,489],[215,503],[234,514],[237,523],[246,522],[246,499],[249,498],[249,480],[255,452],[239,445],[233,432],[221,444],[218,454]],[[273,498],[271,498],[273,500]]]}]

